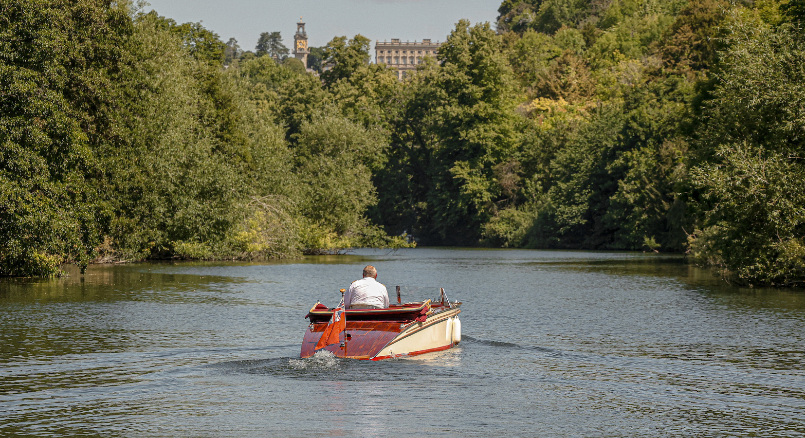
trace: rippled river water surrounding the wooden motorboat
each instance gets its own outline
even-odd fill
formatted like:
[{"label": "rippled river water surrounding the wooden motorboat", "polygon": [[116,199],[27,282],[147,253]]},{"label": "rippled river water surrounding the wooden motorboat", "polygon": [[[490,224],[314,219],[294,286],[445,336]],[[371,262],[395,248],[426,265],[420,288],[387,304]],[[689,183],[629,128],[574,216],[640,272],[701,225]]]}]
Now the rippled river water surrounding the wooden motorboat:
[{"label": "rippled river water surrounding the wooden motorboat", "polygon": [[[463,341],[299,358],[378,267]],[[2,436],[805,436],[805,295],[659,254],[419,248],[0,279]]]}]

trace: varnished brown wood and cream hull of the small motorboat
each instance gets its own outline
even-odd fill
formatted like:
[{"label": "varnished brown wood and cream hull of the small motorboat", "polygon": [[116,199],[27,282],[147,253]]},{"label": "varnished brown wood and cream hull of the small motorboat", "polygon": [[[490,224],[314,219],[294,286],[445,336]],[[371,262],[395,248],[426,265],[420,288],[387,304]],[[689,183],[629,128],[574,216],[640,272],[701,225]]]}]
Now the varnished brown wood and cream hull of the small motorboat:
[{"label": "varnished brown wood and cream hull of the small motorboat", "polygon": [[[324,349],[337,357],[382,360],[391,357],[408,357],[449,349],[453,342],[453,320],[460,313],[458,307],[436,308],[435,312],[420,318],[423,320],[350,320],[346,316],[346,328],[339,337],[340,344]],[[321,320],[308,325],[302,341],[301,357],[316,353],[316,343],[324,333],[327,323]],[[345,342],[345,335],[348,341]]]}]

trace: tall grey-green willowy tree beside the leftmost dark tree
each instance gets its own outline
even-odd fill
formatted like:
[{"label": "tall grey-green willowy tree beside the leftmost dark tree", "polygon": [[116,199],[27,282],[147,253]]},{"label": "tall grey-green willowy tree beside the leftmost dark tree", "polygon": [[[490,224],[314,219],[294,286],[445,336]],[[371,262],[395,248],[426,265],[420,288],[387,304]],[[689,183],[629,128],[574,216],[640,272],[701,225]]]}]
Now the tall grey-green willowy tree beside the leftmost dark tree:
[{"label": "tall grey-green willowy tree beside the leftmost dark tree", "polygon": [[126,102],[115,109],[119,137],[97,145],[114,213],[108,235],[124,259],[222,252],[248,194],[246,135],[223,72],[189,56],[163,24],[156,14],[136,19],[133,60],[115,81]]}]

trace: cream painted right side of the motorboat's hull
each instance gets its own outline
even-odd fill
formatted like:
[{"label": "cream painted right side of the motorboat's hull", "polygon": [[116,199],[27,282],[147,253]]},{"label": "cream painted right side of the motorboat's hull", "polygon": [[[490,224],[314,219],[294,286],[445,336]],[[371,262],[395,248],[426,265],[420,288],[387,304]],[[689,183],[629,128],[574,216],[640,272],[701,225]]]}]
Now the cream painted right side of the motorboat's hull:
[{"label": "cream painted right side of the motorboat's hull", "polygon": [[411,324],[373,358],[404,357],[452,347],[452,321],[459,312],[457,308],[451,309],[438,315],[428,316],[428,320],[423,323]]}]

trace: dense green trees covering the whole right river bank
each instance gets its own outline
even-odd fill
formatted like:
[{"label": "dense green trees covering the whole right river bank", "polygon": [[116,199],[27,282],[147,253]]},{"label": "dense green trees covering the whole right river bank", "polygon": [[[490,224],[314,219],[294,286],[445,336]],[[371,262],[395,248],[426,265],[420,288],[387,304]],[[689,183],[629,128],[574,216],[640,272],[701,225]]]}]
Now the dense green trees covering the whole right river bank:
[{"label": "dense green trees covering the whole right river bank", "polygon": [[376,221],[427,244],[690,251],[801,284],[798,2],[507,0],[407,81]]}]

